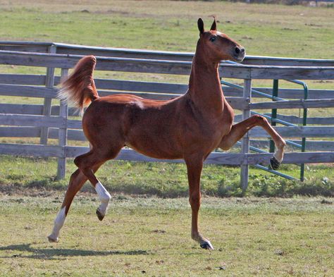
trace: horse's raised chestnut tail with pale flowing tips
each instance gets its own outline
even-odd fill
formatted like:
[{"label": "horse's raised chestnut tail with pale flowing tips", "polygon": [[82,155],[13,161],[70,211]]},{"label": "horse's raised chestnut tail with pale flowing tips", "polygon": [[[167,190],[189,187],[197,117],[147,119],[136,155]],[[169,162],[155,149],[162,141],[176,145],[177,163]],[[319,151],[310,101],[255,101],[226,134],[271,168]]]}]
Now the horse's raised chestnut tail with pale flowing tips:
[{"label": "horse's raised chestnut tail with pale flowing tips", "polygon": [[94,56],[85,56],[78,61],[73,73],[61,82],[58,99],[67,100],[80,110],[88,106],[91,101],[99,98],[93,79],[93,71],[97,59]]}]

